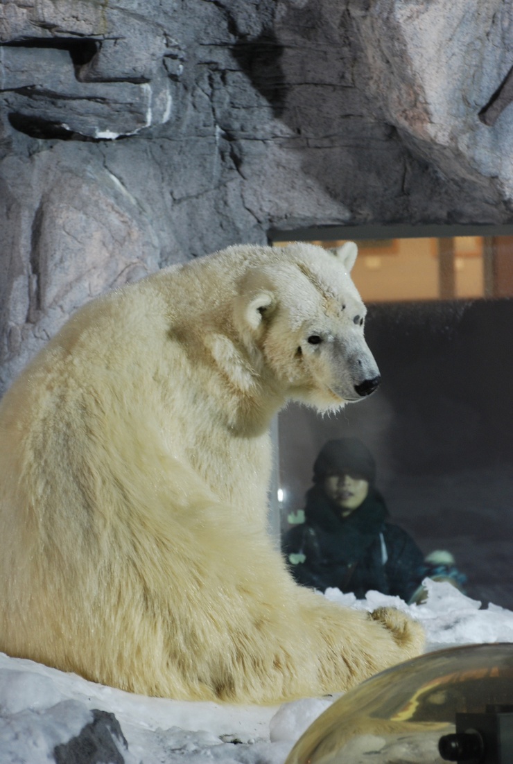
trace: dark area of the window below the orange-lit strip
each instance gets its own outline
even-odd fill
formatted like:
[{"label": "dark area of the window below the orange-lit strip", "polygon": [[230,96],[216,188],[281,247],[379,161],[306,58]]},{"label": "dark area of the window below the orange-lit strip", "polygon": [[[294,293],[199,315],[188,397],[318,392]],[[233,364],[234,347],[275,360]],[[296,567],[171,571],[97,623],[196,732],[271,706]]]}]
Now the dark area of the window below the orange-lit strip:
[{"label": "dark area of the window below the orange-lit strip", "polygon": [[376,458],[392,521],[424,553],[453,552],[470,596],[513,608],[511,325],[511,299],[369,306],[379,390],[337,416],[280,414],[284,524],[323,443],[356,435]]}]

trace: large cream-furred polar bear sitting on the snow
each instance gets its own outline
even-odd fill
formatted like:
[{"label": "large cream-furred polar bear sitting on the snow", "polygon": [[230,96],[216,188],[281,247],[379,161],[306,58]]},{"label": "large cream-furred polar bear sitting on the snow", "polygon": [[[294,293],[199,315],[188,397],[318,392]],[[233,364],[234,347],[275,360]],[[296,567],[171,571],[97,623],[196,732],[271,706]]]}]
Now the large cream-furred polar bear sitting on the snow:
[{"label": "large cream-furred polar bear sitting on the snow", "polygon": [[140,694],[273,704],[421,652],[292,581],[268,426],[376,387],[355,244],[231,247],[92,300],[0,404],[0,649]]}]

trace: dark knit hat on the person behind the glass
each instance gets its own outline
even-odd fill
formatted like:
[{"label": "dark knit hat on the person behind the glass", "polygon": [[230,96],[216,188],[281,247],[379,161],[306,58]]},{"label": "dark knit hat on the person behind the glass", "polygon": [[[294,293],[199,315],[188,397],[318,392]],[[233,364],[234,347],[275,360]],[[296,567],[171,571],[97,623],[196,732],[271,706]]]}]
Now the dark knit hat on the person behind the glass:
[{"label": "dark knit hat on the person behind the glass", "polygon": [[376,480],[376,461],[366,445],[357,438],[328,440],[314,463],[314,483],[328,475],[348,473],[359,475],[373,484]]}]

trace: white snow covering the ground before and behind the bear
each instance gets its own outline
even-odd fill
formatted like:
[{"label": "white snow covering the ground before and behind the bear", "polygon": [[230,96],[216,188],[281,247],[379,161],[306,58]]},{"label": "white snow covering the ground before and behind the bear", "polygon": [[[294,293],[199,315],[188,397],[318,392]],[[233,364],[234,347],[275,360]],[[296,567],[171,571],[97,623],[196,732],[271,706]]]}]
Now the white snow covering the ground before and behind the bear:
[{"label": "white snow covering the ground before and behind the bear", "polygon": [[[365,601],[336,589],[325,596],[347,607],[393,605],[411,613],[424,624],[427,650],[513,642],[511,610],[493,604],[480,610],[479,602],[450,584],[427,584],[428,601],[420,606],[378,592],[369,592]],[[145,698],[0,653],[0,764],[282,764],[333,701],[234,707]],[[94,753],[84,758],[88,730],[95,741],[104,741],[103,758]]]}]

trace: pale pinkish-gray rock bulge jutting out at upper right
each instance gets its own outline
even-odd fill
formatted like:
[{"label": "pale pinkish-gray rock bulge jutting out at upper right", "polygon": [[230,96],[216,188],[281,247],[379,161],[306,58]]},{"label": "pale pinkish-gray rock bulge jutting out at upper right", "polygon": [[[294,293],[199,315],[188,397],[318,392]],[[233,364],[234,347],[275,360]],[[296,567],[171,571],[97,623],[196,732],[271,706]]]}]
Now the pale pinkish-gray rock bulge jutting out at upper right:
[{"label": "pale pinkish-gray rock bulge jutting out at upper right", "polygon": [[511,4],[378,0],[356,28],[366,41],[369,92],[387,121],[447,183],[473,189],[474,202],[455,205],[446,219],[510,221]]}]

